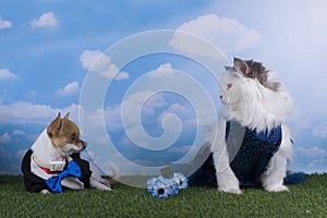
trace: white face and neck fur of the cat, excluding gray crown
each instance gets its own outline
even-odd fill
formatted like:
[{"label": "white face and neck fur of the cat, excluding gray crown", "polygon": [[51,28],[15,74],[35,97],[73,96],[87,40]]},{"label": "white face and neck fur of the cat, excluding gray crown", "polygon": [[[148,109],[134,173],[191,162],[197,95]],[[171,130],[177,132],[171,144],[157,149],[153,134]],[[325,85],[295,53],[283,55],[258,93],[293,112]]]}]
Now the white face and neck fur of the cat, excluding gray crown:
[{"label": "white face and neck fur of the cat, excluding gray crown", "polygon": [[[270,71],[268,75],[268,81],[278,81],[275,72]],[[229,88],[230,84],[232,86]],[[284,123],[293,106],[291,96],[281,83],[275,92],[261,85],[257,80],[227,72],[221,78],[221,87],[222,116],[258,131],[271,130]]]}]

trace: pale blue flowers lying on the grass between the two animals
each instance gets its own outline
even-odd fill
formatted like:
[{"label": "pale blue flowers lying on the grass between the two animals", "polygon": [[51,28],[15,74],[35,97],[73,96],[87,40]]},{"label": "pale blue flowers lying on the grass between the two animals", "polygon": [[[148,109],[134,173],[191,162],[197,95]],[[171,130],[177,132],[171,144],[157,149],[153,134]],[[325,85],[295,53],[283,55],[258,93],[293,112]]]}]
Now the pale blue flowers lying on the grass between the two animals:
[{"label": "pale blue flowers lying on the grass between the two animals", "polygon": [[187,189],[187,180],[181,172],[173,173],[170,179],[159,175],[147,181],[146,190],[150,196],[166,199],[178,194],[180,190]]}]

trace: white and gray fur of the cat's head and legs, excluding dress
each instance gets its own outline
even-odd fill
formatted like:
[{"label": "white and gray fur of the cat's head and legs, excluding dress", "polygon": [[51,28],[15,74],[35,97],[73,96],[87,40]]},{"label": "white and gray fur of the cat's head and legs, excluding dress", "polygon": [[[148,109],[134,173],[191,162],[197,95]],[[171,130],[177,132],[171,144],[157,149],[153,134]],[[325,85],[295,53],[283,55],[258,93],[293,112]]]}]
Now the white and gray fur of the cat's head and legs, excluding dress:
[{"label": "white and gray fur of the cat's head and legs, excluding dress", "polygon": [[261,181],[268,192],[288,191],[283,179],[287,175],[288,159],[292,156],[292,142],[286,120],[293,106],[292,98],[277,74],[261,63],[238,58],[233,62],[233,66],[226,66],[227,72],[220,81],[222,111],[208,138],[214,154],[218,190],[242,193],[239,180],[230,168],[225,138],[227,121],[235,120],[258,132],[281,125],[280,147],[271,157],[266,172],[261,175]]}]

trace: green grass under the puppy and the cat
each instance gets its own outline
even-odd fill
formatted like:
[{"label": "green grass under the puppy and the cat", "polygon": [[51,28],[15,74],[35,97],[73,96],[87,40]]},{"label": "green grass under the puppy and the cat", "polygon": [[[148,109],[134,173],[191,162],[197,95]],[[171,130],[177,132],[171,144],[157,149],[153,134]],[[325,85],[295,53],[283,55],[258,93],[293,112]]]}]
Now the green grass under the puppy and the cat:
[{"label": "green grass under the puppy and the cat", "polygon": [[327,217],[327,173],[291,192],[246,189],[242,195],[193,186],[168,199],[123,184],[112,192],[27,193],[22,175],[0,175],[0,217]]}]

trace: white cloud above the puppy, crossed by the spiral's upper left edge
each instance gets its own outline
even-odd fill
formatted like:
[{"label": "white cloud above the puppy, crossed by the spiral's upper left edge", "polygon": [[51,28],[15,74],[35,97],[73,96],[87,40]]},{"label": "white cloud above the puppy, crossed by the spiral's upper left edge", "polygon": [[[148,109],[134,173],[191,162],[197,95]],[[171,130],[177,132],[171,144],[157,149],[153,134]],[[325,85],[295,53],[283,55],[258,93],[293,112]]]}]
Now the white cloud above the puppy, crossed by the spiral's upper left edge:
[{"label": "white cloud above the puppy, crossed by the spiral's upper left edge", "polygon": [[93,71],[107,78],[114,77],[117,81],[121,81],[130,77],[126,72],[118,72],[118,68],[112,63],[111,58],[100,50],[84,50],[80,60],[85,70]]}]

